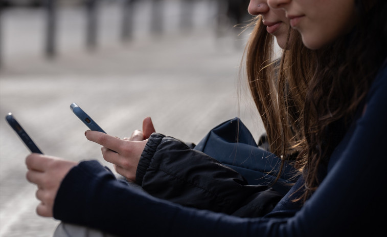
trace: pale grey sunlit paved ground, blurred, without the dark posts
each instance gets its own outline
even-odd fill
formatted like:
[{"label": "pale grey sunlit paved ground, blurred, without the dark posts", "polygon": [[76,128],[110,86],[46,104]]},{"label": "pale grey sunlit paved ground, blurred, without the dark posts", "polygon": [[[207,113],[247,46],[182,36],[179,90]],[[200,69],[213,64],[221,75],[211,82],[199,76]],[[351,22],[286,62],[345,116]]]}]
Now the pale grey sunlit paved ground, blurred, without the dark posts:
[{"label": "pale grey sunlit paved ground, blurred, without the dark posts", "polygon": [[[104,12],[109,11],[115,10]],[[87,128],[70,111],[72,102],[118,137],[141,128],[146,116],[152,117],[157,132],[194,143],[236,116],[256,138],[262,133],[260,123],[253,122],[254,107],[238,85],[243,49],[235,47],[234,37],[215,38],[203,17],[184,34],[169,30],[156,40],[144,31],[126,45],[106,30],[105,41],[90,53],[76,40],[81,34],[74,33],[74,21],[81,16],[77,11],[63,14],[72,22],[63,23],[62,35],[72,36],[66,36],[67,43],[62,37],[60,55],[51,61],[36,47],[39,27],[33,26],[40,13],[17,11],[3,18],[7,47],[0,70],[0,116],[12,112],[45,154],[98,159],[109,166],[100,146],[84,138]],[[24,31],[16,30],[20,28]],[[0,119],[0,236],[51,236],[58,224],[35,213],[35,187],[25,180],[28,153]]]}]

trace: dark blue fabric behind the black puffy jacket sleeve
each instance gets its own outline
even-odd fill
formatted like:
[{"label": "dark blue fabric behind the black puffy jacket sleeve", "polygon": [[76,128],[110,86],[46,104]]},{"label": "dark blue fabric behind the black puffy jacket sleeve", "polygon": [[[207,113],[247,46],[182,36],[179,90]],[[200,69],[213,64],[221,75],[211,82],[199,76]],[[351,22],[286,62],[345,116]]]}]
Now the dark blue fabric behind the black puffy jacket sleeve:
[{"label": "dark blue fabric behind the black puffy jacket sleeve", "polygon": [[294,169],[286,165],[277,183],[281,159],[258,147],[253,135],[239,118],[227,120],[214,127],[194,149],[211,156],[241,174],[249,185],[272,185],[283,195],[289,191],[289,179]]}]

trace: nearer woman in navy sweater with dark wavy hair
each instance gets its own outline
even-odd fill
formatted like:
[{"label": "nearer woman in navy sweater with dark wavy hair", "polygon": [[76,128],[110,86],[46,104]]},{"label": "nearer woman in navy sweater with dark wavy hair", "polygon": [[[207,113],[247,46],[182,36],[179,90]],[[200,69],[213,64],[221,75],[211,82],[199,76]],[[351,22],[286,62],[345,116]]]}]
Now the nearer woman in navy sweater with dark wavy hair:
[{"label": "nearer woman in navy sweater with dark wavy hair", "polygon": [[[385,234],[380,217],[387,205],[379,193],[387,181],[383,149],[387,142],[387,3],[269,3],[285,8],[304,44],[317,50],[302,120],[295,130],[301,139],[295,165],[303,176],[273,211],[263,218],[240,218],[183,207],[128,188],[98,162],[75,164],[32,154],[26,160],[27,178],[39,187],[38,213],[123,236]],[[322,18],[315,19],[317,15]],[[335,21],[327,27],[325,20],[331,18]],[[292,89],[290,84],[286,87]],[[180,141],[160,134],[152,134],[148,141],[125,143],[98,132],[89,131],[86,137],[119,154],[130,150],[127,156],[141,157],[133,172],[161,168],[155,160],[163,158],[166,149],[172,157],[193,153]],[[125,205],[118,208],[117,203]]]}]

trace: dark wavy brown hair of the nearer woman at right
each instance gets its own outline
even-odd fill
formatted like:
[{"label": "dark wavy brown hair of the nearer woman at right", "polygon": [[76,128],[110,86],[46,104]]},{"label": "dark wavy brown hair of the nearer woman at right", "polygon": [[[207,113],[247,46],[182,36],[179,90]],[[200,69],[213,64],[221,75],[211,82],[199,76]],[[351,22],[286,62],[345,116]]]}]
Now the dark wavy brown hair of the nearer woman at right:
[{"label": "dark wavy brown hair of the nearer woman at right", "polygon": [[354,20],[360,20],[352,32],[316,51],[303,109],[305,140],[297,158],[305,164],[304,201],[320,184],[318,167],[328,163],[387,56],[387,2],[371,2],[356,1]]}]

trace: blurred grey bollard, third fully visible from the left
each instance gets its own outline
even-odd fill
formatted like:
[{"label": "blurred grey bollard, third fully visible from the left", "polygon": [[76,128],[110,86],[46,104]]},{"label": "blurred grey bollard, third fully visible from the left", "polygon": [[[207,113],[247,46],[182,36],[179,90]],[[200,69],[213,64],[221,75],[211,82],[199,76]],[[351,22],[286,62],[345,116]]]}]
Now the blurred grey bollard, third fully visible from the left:
[{"label": "blurred grey bollard, third fully visible from the left", "polygon": [[122,41],[130,41],[133,39],[134,2],[136,1],[123,0],[122,3]]}]

